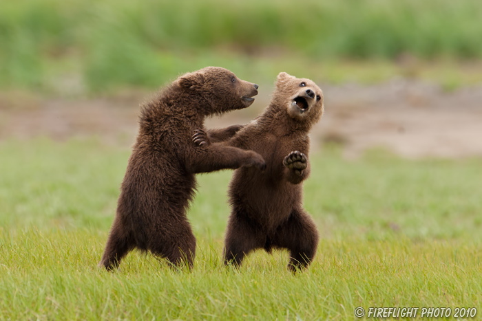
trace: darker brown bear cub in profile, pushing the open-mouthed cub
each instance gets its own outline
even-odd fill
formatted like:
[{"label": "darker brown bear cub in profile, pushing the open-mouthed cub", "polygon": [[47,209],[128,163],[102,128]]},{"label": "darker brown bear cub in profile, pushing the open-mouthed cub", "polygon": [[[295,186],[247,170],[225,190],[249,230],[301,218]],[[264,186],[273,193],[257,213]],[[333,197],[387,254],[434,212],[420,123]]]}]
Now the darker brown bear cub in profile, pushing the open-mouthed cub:
[{"label": "darker brown bear cub in profile, pushing the open-mouthed cub", "polygon": [[180,76],[144,105],[121,186],[116,217],[99,266],[112,269],[134,248],[191,267],[196,239],[186,217],[195,173],[257,166],[253,151],[218,144],[196,147],[191,135],[206,116],[249,107],[258,85],[231,71],[206,67]]}]

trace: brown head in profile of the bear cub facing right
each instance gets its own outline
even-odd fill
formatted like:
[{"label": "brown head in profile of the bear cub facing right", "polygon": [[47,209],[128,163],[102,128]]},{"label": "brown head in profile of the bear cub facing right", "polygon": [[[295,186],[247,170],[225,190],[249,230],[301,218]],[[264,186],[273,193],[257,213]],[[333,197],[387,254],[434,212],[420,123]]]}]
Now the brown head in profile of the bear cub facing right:
[{"label": "brown head in profile of the bear cub facing right", "polygon": [[251,106],[258,95],[258,85],[236,77],[228,69],[205,67],[178,78],[182,89],[200,95],[209,105],[206,113],[224,113]]}]

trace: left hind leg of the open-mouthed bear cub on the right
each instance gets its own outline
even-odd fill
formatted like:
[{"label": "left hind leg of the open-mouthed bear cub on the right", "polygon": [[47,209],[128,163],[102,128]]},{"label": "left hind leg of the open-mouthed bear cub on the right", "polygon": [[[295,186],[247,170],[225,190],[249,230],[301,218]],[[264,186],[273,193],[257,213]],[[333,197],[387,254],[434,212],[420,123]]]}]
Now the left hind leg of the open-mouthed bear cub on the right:
[{"label": "left hind leg of the open-mouthed bear cub on the right", "polygon": [[263,247],[265,243],[266,234],[253,225],[246,214],[233,212],[224,239],[224,265],[240,267],[245,255]]}]

